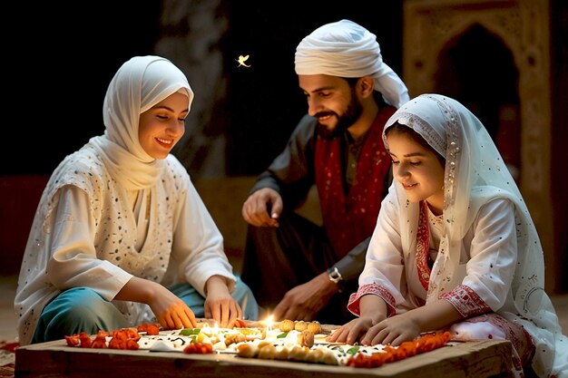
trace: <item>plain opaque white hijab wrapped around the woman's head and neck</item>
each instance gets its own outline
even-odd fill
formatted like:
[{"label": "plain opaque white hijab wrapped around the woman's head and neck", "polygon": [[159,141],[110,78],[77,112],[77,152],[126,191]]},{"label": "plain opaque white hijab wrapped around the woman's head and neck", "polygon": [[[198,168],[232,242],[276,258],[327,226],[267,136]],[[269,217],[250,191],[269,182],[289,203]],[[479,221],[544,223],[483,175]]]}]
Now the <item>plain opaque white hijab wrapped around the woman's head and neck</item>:
[{"label": "plain opaque white hijab wrapped around the woman's head and neck", "polygon": [[193,92],[185,74],[160,56],[135,56],[114,74],[103,102],[106,130],[89,144],[124,189],[149,188],[158,178],[163,160],[142,149],[138,122],[142,112],[174,92],[185,93],[191,107]]}]

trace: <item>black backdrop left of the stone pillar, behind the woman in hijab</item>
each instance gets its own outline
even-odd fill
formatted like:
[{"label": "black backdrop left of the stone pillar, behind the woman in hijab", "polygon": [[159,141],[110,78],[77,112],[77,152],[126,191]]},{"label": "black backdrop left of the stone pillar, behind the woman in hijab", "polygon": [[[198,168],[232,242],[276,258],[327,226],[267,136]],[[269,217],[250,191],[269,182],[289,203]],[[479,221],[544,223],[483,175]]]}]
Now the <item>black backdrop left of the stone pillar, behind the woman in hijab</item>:
[{"label": "black backdrop left of the stone pillar, behind the woman in hijab", "polygon": [[103,133],[103,98],[113,74],[132,55],[152,53],[159,34],[159,1],[114,3],[14,5],[14,26],[4,33],[12,90],[5,93],[0,174],[49,174]]}]

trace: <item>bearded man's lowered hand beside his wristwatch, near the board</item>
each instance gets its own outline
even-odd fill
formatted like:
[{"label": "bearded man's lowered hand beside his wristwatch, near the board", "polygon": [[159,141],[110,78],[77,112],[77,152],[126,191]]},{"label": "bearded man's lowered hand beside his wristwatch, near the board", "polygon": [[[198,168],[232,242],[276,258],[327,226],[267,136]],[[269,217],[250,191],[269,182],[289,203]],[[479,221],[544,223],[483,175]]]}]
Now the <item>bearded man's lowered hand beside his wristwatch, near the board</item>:
[{"label": "bearded man's lowered hand beside his wristwatch, near the board", "polygon": [[290,289],[274,308],[274,319],[316,320],[318,312],[337,292],[336,284],[329,281],[328,274],[324,272],[307,283]]}]

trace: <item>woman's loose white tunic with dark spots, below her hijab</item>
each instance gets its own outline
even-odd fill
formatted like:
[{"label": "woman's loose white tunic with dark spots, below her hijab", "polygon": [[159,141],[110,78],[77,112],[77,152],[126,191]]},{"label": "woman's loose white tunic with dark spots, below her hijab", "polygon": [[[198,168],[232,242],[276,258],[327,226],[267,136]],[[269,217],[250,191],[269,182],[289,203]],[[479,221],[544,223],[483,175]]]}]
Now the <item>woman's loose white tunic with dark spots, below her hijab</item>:
[{"label": "woman's loose white tunic with dark spots, below her hijab", "polygon": [[[63,290],[93,288],[106,300],[132,276],[169,286],[225,276],[234,288],[223,238],[173,155],[152,189],[118,185],[93,149],[68,156],[37,208],[15,296],[21,344],[29,344],[44,306]],[[153,198],[152,198],[153,197]],[[147,305],[114,303],[132,324],[150,322]]]}]

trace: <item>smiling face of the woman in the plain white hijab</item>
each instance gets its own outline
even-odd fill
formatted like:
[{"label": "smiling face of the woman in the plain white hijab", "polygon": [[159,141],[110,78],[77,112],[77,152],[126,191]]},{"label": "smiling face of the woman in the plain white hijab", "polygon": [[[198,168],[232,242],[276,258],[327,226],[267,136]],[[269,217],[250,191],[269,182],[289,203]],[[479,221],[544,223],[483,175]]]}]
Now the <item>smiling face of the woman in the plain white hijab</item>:
[{"label": "smiling face of the woman in the plain white hijab", "polygon": [[140,114],[138,139],[154,159],[166,159],[185,132],[190,99],[175,92]]}]

